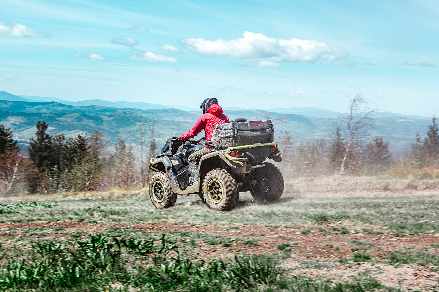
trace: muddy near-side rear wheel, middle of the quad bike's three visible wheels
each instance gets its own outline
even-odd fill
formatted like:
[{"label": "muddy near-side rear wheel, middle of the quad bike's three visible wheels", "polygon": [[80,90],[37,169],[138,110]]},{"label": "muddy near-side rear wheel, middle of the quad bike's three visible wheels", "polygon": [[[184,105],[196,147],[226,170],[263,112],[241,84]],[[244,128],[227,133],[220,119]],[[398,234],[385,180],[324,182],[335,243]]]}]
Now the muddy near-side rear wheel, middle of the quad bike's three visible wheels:
[{"label": "muddy near-side rear wheel, middle of the quad bike's three visible wheels", "polygon": [[204,177],[203,198],[210,209],[229,211],[239,198],[236,180],[224,169],[213,169]]}]

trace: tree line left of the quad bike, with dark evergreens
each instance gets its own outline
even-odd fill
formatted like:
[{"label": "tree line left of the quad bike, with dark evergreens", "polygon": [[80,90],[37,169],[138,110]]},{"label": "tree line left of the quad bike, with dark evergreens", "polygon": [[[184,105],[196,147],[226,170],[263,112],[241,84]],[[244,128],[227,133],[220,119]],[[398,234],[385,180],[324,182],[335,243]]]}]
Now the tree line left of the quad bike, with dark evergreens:
[{"label": "tree line left of the quad bike, with dark evergreens", "polygon": [[154,121],[140,122],[132,137],[137,151],[119,138],[113,153],[102,132],[66,139],[63,133],[49,135],[49,125],[38,121],[23,155],[13,131],[0,125],[0,195],[145,187],[151,177],[146,158],[157,154]]}]

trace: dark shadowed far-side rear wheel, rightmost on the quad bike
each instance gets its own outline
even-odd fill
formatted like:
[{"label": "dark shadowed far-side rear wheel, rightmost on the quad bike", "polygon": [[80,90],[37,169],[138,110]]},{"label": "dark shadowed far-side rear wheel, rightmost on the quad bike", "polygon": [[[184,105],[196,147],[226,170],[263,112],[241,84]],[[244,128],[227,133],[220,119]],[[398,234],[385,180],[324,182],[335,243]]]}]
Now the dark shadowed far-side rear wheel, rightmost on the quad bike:
[{"label": "dark shadowed far-side rear wheel, rightmost on the quad bike", "polygon": [[263,201],[277,201],[284,192],[284,177],[281,171],[270,162],[254,170],[257,183],[250,191],[253,198]]}]

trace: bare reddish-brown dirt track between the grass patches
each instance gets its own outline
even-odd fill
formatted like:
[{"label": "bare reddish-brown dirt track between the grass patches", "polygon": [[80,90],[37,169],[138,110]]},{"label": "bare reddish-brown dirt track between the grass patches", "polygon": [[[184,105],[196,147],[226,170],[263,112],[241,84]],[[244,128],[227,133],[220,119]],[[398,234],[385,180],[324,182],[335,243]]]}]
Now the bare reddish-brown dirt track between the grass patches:
[{"label": "bare reddish-brown dirt track between the grass patches", "polygon": [[[355,227],[354,223],[345,221],[337,224],[319,225],[323,228],[336,227],[343,224],[345,227]],[[439,243],[439,234],[421,234],[404,237],[395,237],[391,232],[384,234],[349,233],[323,235],[318,229],[312,229],[308,234],[302,234],[301,230],[315,228],[316,225],[291,225],[285,227],[265,227],[263,225],[198,225],[188,224],[181,221],[177,223],[158,222],[155,224],[107,224],[87,222],[34,222],[30,224],[0,224],[0,238],[3,238],[3,246],[16,245],[18,242],[7,240],[7,238],[32,238],[35,235],[23,235],[28,228],[42,227],[47,230],[63,227],[63,234],[47,234],[39,238],[68,238],[75,233],[105,232],[109,227],[128,227],[137,230],[148,231],[151,235],[172,231],[187,231],[191,234],[204,234],[205,236],[222,235],[239,238],[258,238],[259,245],[245,245],[244,241],[237,241],[233,250],[223,245],[209,245],[202,241],[197,245],[181,244],[182,248],[187,247],[191,253],[198,254],[202,259],[226,259],[240,254],[278,254],[285,255],[281,267],[288,269],[291,273],[311,276],[313,278],[334,278],[335,281],[352,281],[352,276],[359,273],[368,273],[381,281],[386,286],[398,287],[399,283],[407,291],[425,290],[426,286],[438,285],[439,273],[430,271],[431,266],[425,265],[404,265],[393,266],[384,263],[386,256],[396,250],[409,248],[410,251],[422,251],[431,244]],[[232,227],[232,228],[230,228]],[[364,225],[372,231],[379,228],[374,225]],[[350,228],[349,228],[350,229]],[[352,231],[351,231],[352,232]],[[233,239],[233,238],[232,238]],[[347,262],[338,263],[339,259],[352,259],[358,243],[365,244],[367,253],[378,262],[373,265],[369,262]],[[157,241],[159,244],[159,241]],[[290,243],[291,251],[279,250],[277,246],[282,243]],[[431,248],[429,252],[439,255],[439,249]],[[380,263],[379,260],[383,260]],[[429,290],[434,291],[434,290]]]}]

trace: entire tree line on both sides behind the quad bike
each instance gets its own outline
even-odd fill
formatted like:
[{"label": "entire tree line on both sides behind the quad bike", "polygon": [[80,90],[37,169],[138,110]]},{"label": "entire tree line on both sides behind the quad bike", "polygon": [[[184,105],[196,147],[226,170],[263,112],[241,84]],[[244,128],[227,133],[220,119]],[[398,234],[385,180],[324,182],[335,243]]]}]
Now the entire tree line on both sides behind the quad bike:
[{"label": "entire tree line on both sides behind the quad bike", "polygon": [[[389,141],[382,137],[368,140],[367,130],[374,127],[375,111],[359,93],[350,99],[348,114],[334,124],[331,138],[314,141],[311,137],[306,143],[295,145],[290,132],[281,133],[283,162],[278,166],[284,176],[364,175],[395,166],[439,165],[435,117],[426,136],[416,133],[410,151],[394,158]],[[102,132],[79,133],[66,139],[62,133],[49,135],[49,125],[38,121],[27,155],[14,141],[12,130],[0,125],[0,195],[145,187],[152,175],[149,158],[157,155],[154,123],[154,117],[149,123],[140,121],[130,145],[119,138],[114,151],[109,151]]]}]

